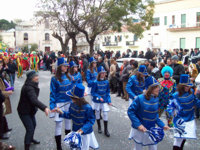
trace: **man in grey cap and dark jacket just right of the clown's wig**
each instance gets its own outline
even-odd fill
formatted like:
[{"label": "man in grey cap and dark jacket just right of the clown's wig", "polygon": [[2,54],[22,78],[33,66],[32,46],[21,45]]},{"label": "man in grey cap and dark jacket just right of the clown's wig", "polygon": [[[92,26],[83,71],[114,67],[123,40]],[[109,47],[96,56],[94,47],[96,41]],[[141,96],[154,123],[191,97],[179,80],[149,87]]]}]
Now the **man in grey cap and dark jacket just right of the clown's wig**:
[{"label": "man in grey cap and dark jacket just right of the clown's wig", "polygon": [[176,83],[179,83],[180,75],[185,74],[183,65],[178,64],[179,57],[177,55],[172,56],[172,69],[174,70],[173,79]]}]

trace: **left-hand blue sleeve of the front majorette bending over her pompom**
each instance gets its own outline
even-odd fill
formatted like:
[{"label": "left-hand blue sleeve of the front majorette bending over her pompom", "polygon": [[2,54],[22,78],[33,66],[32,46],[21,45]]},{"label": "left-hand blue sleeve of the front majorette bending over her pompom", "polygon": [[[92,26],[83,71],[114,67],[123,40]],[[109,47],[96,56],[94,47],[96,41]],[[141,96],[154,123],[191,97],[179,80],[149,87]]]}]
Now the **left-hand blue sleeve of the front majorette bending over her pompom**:
[{"label": "left-hand blue sleeve of the front majorette bending over her pompom", "polygon": [[132,104],[130,105],[130,107],[128,108],[128,117],[132,122],[132,127],[137,129],[140,125],[141,122],[139,120],[139,118],[137,117],[137,111],[140,108],[140,100],[139,97],[137,97]]}]

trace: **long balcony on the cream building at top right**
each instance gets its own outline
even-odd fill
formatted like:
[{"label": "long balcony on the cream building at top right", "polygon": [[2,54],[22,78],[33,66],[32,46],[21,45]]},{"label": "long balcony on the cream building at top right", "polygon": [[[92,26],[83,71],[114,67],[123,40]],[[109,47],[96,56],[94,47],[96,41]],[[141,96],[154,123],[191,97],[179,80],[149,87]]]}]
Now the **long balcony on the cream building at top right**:
[{"label": "long balcony on the cream building at top right", "polygon": [[169,25],[167,30],[170,32],[196,31],[200,30],[200,22]]}]

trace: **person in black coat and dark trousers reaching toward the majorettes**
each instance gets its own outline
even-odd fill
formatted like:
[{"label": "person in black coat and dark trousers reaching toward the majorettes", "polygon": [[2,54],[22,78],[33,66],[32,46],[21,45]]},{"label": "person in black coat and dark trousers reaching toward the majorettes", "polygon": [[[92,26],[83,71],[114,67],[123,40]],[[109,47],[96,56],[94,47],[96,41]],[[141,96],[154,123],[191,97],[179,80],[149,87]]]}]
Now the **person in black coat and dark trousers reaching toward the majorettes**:
[{"label": "person in black coat and dark trousers reaching toward the majorettes", "polygon": [[39,108],[44,111],[46,115],[50,112],[47,106],[38,100],[40,91],[38,84],[38,74],[35,71],[28,72],[27,79],[21,90],[20,100],[17,107],[19,117],[26,129],[24,140],[25,150],[29,150],[31,143],[40,143],[33,138],[36,128],[35,114],[37,109]]}]

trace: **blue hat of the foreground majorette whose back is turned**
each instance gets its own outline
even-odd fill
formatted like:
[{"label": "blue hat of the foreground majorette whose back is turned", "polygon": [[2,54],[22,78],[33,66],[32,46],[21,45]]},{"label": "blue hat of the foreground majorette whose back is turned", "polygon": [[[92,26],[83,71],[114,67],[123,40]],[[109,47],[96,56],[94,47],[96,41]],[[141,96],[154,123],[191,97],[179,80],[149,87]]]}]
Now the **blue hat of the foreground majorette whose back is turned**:
[{"label": "blue hat of the foreground majorette whose back is turned", "polygon": [[82,83],[75,85],[71,90],[67,91],[67,95],[74,98],[83,98],[85,93],[85,87]]}]

